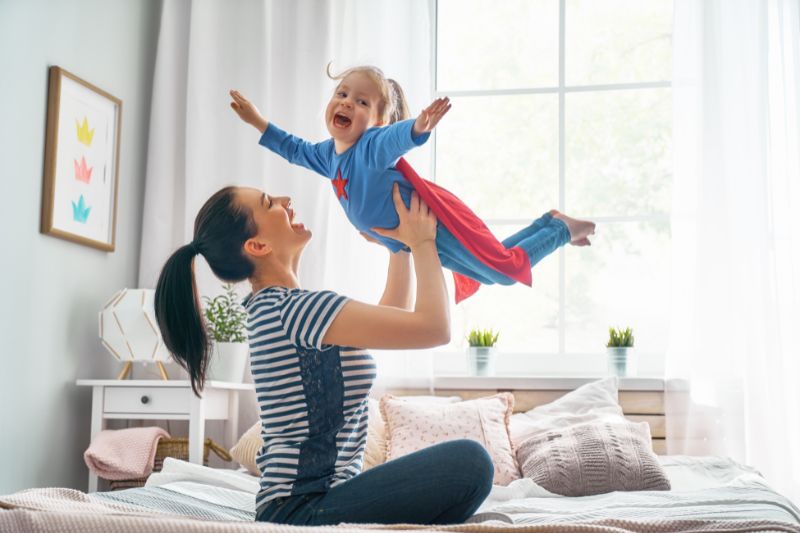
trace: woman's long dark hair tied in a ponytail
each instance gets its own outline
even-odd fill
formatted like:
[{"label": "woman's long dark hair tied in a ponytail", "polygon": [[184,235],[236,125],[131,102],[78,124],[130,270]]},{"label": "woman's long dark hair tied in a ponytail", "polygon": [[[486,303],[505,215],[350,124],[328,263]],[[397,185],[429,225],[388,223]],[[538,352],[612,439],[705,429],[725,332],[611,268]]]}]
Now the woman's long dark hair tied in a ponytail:
[{"label": "woman's long dark hair tied in a ponytail", "polygon": [[244,255],[247,239],[257,233],[250,209],[236,202],[236,187],[225,187],[209,198],[194,220],[194,240],[167,259],[158,277],[156,321],[173,359],[189,373],[197,396],[206,381],[209,341],[195,291],[192,261],[198,253],[222,281],[237,283],[253,274]]}]

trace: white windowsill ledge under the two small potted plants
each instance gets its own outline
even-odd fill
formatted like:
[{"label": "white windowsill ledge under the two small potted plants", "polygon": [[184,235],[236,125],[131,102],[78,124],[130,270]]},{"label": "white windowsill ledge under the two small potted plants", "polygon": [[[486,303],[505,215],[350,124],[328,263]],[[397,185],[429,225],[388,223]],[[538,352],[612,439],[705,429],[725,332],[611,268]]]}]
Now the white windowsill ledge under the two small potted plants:
[{"label": "white windowsill ledge under the two small potted plants", "polygon": [[[434,376],[433,388],[440,389],[487,389],[487,390],[573,390],[604,375],[585,376]],[[624,377],[619,378],[621,391],[663,391],[664,378]]]}]

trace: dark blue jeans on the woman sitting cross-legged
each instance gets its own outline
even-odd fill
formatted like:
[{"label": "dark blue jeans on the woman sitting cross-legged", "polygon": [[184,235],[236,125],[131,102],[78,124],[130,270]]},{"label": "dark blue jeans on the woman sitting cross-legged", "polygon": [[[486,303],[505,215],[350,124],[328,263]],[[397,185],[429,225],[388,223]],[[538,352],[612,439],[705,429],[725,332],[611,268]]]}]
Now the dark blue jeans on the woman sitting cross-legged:
[{"label": "dark blue jeans on the woman sitting cross-legged", "polygon": [[475,441],[443,442],[371,468],[328,492],[275,498],[256,520],[277,524],[460,524],[489,495],[494,466]]}]

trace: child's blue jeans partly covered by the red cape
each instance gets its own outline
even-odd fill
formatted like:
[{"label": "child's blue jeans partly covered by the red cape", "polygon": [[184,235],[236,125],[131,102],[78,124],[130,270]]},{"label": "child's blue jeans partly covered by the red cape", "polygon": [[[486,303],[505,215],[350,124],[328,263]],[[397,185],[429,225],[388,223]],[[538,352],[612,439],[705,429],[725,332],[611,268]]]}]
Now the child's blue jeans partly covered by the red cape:
[{"label": "child's blue jeans partly covered by the red cape", "polygon": [[[545,213],[503,241],[503,246],[519,246],[528,255],[531,267],[570,241],[567,225],[550,213]],[[436,248],[442,266],[480,281],[484,285],[499,283],[513,285],[515,280],[481,263],[443,224],[436,231]]]}]

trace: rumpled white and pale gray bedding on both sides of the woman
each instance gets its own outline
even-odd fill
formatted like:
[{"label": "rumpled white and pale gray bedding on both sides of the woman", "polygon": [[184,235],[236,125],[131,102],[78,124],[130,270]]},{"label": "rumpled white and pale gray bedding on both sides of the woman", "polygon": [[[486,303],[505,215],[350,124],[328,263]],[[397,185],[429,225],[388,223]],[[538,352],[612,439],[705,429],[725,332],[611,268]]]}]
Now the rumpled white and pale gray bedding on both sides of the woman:
[{"label": "rumpled white and pale gray bedding on both sides of the woman", "polygon": [[[770,520],[800,533],[800,511],[753,469],[717,457],[660,458],[670,491],[552,494],[530,479],[493,487],[470,522],[570,524],[603,520]],[[141,489],[90,495],[206,520],[252,521],[259,480],[245,472],[167,459]],[[659,522],[660,523],[660,522]],[[663,524],[662,524],[663,525]],[[786,531],[781,526],[776,530]]]}]

